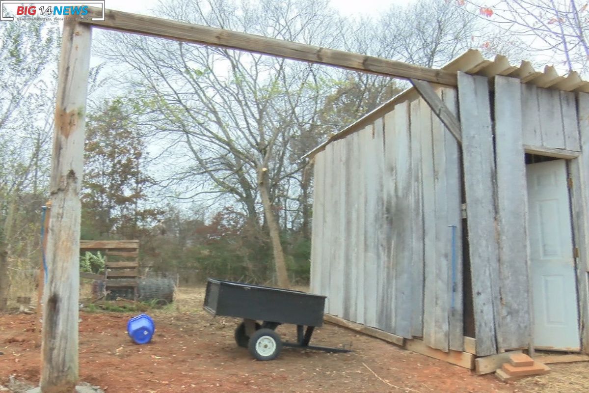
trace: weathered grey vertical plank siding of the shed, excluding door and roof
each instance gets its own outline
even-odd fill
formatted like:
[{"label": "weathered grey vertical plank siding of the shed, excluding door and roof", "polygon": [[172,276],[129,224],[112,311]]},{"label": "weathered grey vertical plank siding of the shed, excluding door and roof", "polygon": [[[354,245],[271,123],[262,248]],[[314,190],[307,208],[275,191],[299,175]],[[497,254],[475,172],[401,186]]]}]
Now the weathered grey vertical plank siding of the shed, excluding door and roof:
[{"label": "weathered grey vertical plank siding of the shed, excluding door and roof", "polygon": [[459,118],[462,146],[413,97],[317,154],[312,288],[329,296],[328,313],[464,351],[469,272],[477,355],[527,348],[525,151],[560,151],[578,157],[570,161],[571,195],[588,348],[589,158],[581,150],[589,150],[589,95],[577,100],[502,76],[491,94],[488,78],[464,73],[458,85],[436,93]]}]

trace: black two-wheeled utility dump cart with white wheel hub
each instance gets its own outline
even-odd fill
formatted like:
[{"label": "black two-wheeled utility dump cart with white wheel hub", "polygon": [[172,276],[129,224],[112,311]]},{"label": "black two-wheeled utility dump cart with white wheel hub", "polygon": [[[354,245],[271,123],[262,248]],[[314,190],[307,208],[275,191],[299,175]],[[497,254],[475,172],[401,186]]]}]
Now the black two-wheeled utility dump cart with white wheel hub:
[{"label": "black two-wheeled utility dump cart with white wheel hub", "polygon": [[[323,325],[324,308],[325,296],[212,278],[207,280],[204,297],[204,309],[211,314],[243,319],[235,329],[235,341],[247,347],[258,360],[276,359],[283,346],[349,352],[343,348],[309,345],[313,329]],[[282,342],[274,331],[283,323],[296,325],[296,343]]]}]

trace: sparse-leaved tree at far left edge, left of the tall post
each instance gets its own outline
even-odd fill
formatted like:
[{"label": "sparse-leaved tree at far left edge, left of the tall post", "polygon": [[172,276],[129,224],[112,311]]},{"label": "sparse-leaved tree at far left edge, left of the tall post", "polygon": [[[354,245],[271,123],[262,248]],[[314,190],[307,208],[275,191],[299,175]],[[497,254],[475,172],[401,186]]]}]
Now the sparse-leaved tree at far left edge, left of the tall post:
[{"label": "sparse-leaved tree at far left edge, left of the tall post", "polygon": [[38,250],[31,221],[47,187],[57,32],[44,23],[0,24],[0,309],[10,260]]}]

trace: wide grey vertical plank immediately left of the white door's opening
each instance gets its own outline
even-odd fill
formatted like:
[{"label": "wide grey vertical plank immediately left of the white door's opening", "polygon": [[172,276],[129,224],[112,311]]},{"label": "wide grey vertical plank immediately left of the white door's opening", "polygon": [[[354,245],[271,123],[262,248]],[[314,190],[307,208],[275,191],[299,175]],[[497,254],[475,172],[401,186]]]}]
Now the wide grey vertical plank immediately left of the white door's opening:
[{"label": "wide grey vertical plank immediately left of the white door's opening", "polygon": [[531,309],[528,276],[527,181],[522,143],[521,82],[495,77],[495,154],[501,303],[499,351],[530,345]]}]

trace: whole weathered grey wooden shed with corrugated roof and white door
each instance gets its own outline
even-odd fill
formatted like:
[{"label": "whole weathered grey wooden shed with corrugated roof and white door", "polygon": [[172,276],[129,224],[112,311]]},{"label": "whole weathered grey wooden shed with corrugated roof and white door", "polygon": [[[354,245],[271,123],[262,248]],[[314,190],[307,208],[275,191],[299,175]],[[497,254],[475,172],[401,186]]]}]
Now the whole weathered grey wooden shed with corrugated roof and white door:
[{"label": "whole weathered grey wooden shed with corrugated roof and white door", "polygon": [[308,154],[312,292],[465,367],[589,352],[589,82],[474,50],[442,70],[457,88],[412,81]]}]

